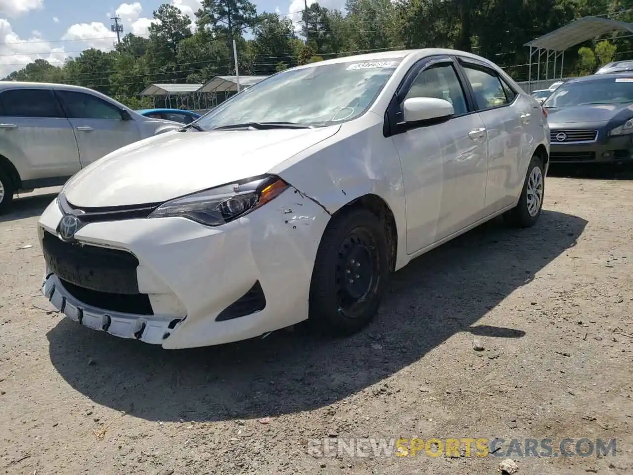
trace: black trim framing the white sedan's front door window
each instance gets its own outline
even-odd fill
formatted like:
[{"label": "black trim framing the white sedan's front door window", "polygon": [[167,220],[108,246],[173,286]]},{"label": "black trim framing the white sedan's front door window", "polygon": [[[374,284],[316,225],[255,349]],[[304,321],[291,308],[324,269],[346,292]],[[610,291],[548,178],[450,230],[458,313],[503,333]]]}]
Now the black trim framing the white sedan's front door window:
[{"label": "black trim framing the white sedan's front door window", "polygon": [[[409,90],[411,89],[411,85],[413,84],[415,79],[417,79],[420,73],[424,72],[427,69],[441,65],[453,66],[454,71],[457,75],[457,79],[460,82],[461,90],[464,93],[467,112],[460,115],[451,115],[451,117],[448,118],[439,118],[430,121],[424,121],[423,123],[403,124],[403,122],[399,120],[402,115],[400,105],[402,101],[404,101],[406,94],[408,94]],[[397,134],[403,134],[408,130],[420,129],[422,127],[429,127],[430,125],[442,124],[443,122],[448,122],[453,118],[465,117],[467,115],[477,113],[477,108],[475,107],[476,105],[472,98],[472,88],[470,87],[470,82],[465,82],[465,80],[466,78],[464,76],[464,73],[461,70],[460,65],[458,64],[458,61],[456,61],[455,56],[451,56],[448,54],[436,54],[434,56],[427,56],[416,61],[404,74],[403,79],[400,80],[400,84],[398,84],[396,92],[391,98],[391,101],[387,106],[387,110],[385,110],[382,135],[384,137],[391,137]]]}]

